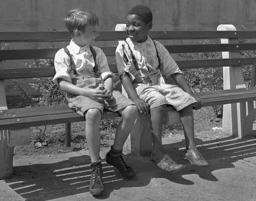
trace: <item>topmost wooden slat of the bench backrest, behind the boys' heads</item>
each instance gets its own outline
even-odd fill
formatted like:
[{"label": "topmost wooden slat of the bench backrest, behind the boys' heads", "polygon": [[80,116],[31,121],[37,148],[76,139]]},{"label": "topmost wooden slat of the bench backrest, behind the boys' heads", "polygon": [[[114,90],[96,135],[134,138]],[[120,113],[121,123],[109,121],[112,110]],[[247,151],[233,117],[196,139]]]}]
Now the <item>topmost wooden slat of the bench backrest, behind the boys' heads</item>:
[{"label": "topmost wooden slat of the bench backrest, behind the boys' heads", "polygon": [[[122,40],[127,38],[124,31],[99,31],[97,41]],[[255,38],[255,31],[150,31],[153,39],[211,39],[211,38]],[[69,41],[67,31],[24,31],[0,32],[0,41],[27,42],[27,41]]]}]

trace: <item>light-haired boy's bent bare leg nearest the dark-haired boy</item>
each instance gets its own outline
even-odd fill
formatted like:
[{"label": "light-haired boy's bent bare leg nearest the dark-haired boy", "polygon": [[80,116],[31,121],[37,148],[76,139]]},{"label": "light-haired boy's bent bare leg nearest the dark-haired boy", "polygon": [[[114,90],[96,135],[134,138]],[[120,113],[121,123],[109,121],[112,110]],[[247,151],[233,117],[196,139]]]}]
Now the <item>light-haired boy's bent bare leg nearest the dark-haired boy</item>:
[{"label": "light-haired boy's bent bare leg nearest the dark-haired boy", "polygon": [[122,150],[123,144],[132,131],[134,122],[137,119],[138,109],[136,105],[129,105],[119,110],[119,113],[122,116],[122,120],[116,128],[115,141],[113,144],[113,149],[115,150]]}]

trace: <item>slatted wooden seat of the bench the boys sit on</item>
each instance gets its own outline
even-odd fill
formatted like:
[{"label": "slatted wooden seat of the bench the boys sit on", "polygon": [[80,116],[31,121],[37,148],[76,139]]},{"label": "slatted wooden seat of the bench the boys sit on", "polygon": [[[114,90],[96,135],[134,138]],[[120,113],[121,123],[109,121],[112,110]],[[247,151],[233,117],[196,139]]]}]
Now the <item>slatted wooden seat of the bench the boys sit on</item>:
[{"label": "slatted wooden seat of the bench the boys sit on", "polygon": [[[218,90],[200,92],[196,95],[204,101],[204,107],[256,100],[256,87],[238,88],[235,90]],[[174,108],[168,106],[166,111]],[[120,117],[119,113],[104,110],[101,119]],[[61,124],[84,121],[84,118],[70,109],[67,104],[40,106],[0,111],[0,130],[20,129],[42,125]]]}]

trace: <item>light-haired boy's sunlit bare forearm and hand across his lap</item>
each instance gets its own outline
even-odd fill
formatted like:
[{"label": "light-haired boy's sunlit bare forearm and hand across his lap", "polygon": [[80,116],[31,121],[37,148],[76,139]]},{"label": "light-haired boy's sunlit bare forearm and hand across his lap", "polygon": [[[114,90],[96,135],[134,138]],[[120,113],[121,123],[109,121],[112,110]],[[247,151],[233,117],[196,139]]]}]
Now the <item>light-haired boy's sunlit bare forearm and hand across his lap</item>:
[{"label": "light-haired boy's sunlit bare forearm and hand across his lap", "polygon": [[108,95],[105,95],[103,90],[96,90],[94,88],[81,88],[72,83],[67,82],[64,79],[58,79],[59,88],[69,94],[78,96],[86,96],[96,102],[102,102],[108,99]]}]

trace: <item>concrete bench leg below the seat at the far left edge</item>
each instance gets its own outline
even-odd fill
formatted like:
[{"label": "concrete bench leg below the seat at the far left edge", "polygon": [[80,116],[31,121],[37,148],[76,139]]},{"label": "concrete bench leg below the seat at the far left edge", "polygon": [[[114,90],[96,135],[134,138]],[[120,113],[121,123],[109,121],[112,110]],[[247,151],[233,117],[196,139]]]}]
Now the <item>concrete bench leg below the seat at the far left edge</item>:
[{"label": "concrete bench leg below the seat at the far left edge", "polygon": [[12,176],[14,146],[8,145],[8,131],[0,131],[0,180]]}]

